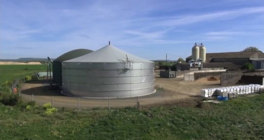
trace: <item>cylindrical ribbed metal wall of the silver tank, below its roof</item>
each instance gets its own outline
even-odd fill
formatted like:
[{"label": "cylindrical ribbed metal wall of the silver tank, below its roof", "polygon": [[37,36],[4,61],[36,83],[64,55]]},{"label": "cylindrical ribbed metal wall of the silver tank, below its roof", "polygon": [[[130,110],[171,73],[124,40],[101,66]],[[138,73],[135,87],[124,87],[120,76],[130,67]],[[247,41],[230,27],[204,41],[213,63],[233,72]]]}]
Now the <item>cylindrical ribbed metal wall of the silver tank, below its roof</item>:
[{"label": "cylindrical ribbed metal wall of the silver tank, below its roof", "polygon": [[125,98],[155,92],[154,63],[73,63],[63,62],[62,92],[66,95]]}]

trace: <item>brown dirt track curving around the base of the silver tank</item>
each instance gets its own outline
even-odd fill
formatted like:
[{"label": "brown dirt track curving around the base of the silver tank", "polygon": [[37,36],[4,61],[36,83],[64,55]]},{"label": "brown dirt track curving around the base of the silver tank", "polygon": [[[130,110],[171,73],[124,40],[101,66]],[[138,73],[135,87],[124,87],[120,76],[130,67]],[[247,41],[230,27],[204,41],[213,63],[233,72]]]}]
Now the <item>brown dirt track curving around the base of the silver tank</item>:
[{"label": "brown dirt track curving around the base of the silver tank", "polygon": [[[177,78],[159,78],[156,77],[157,87],[161,86],[163,89],[157,89],[156,93],[139,97],[139,102],[141,106],[151,106],[151,105],[168,105],[180,102],[186,99],[198,98],[201,88],[212,88],[219,87],[220,81],[180,81]],[[53,96],[53,105],[57,107],[78,107],[77,97],[67,97],[60,94],[60,89],[52,87],[48,84],[43,84],[31,82],[25,83],[22,86],[22,98],[25,101],[32,100],[33,98],[37,104],[43,105],[45,103],[51,103]],[[111,107],[125,107],[125,106],[135,106],[137,104],[137,98],[119,98],[110,99]],[[90,107],[107,107],[108,99],[89,99],[80,98],[81,108]]]}]

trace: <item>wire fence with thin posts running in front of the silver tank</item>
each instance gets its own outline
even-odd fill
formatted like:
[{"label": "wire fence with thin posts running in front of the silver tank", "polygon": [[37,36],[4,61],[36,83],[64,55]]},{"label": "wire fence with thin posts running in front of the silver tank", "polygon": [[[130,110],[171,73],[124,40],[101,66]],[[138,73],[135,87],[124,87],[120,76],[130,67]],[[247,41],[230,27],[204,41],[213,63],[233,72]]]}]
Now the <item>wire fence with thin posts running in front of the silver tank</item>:
[{"label": "wire fence with thin posts running in front of the silver tank", "polygon": [[52,107],[67,107],[67,108],[120,108],[120,107],[136,107],[140,109],[139,97],[133,98],[105,98],[105,99],[92,99],[82,97],[69,97],[69,96],[48,96],[48,95],[34,95],[34,94],[20,94],[24,101],[35,101],[38,105],[50,103]]}]

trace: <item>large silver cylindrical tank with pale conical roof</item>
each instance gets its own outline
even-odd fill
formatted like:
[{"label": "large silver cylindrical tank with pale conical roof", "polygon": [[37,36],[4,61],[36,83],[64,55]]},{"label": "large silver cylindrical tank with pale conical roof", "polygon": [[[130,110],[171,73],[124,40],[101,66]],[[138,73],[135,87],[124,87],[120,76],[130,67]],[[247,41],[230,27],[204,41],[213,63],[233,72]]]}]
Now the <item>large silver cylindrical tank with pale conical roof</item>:
[{"label": "large silver cylindrical tank with pale conical roof", "polygon": [[77,97],[125,98],[155,92],[154,62],[111,45],[63,62],[62,93]]}]

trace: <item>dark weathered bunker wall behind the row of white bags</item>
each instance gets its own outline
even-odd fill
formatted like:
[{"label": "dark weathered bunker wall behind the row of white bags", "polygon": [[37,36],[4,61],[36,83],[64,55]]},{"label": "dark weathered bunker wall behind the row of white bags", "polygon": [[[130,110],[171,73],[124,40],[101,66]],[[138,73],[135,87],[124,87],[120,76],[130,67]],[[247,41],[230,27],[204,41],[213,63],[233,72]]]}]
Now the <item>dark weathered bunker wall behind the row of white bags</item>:
[{"label": "dark weathered bunker wall behind the row of white bags", "polygon": [[248,72],[248,73],[224,73],[221,74],[221,86],[230,86],[236,84],[260,84],[264,72]]}]

